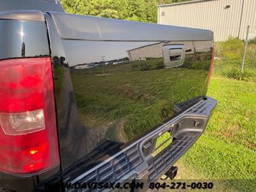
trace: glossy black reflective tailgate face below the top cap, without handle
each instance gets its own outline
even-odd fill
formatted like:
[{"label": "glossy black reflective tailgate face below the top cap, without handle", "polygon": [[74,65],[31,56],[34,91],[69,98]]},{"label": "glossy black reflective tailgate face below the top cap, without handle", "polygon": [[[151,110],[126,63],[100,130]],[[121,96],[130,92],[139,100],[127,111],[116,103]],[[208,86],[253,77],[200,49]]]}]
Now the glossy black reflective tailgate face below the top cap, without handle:
[{"label": "glossy black reflective tailgate face below the top cap, without handle", "polygon": [[[133,41],[136,33],[119,33],[125,41],[70,40],[61,38],[50,15],[45,18],[64,178],[77,161],[84,159],[81,172],[92,168],[207,92],[211,39],[162,41],[156,34],[160,41]],[[164,68],[163,45],[169,44],[185,45],[186,60],[178,68]]]}]

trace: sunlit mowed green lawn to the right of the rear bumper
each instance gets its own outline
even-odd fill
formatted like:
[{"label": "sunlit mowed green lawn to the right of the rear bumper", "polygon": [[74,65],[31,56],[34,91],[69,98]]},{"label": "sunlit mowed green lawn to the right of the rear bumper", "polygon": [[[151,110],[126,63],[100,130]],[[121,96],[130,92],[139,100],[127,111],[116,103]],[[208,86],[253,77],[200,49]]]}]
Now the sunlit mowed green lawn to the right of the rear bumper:
[{"label": "sunlit mowed green lawn to the right of the rear bumper", "polygon": [[225,189],[254,191],[256,84],[213,78],[207,95],[218,100],[218,107],[204,134],[177,163],[178,179],[231,179],[223,182]]}]

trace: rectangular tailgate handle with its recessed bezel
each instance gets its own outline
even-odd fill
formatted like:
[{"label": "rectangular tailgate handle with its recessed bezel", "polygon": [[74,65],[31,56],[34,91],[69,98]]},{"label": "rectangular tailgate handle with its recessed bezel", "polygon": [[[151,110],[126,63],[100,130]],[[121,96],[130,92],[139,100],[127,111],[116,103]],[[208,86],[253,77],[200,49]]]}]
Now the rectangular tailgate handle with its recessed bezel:
[{"label": "rectangular tailgate handle with its recessed bezel", "polygon": [[164,45],[163,47],[163,57],[164,57],[164,67],[179,67],[183,65],[185,61],[185,51],[184,45]]}]

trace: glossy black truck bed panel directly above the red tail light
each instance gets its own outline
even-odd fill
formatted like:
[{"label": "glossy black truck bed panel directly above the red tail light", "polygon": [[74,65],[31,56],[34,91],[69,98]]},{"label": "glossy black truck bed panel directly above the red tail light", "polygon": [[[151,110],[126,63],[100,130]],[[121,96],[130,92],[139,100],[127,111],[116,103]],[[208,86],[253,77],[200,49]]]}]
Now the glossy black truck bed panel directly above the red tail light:
[{"label": "glossy black truck bed panel directly above the red tail light", "polygon": [[0,60],[50,55],[45,22],[0,20],[0,36]]}]

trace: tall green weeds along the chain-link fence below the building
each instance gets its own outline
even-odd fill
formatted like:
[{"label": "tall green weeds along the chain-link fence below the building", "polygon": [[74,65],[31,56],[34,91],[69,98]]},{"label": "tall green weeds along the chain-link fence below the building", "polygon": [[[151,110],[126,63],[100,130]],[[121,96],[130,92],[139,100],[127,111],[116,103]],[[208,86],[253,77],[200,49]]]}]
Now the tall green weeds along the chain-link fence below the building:
[{"label": "tall green weeds along the chain-link fence below the building", "polygon": [[256,82],[256,44],[251,43],[246,47],[242,73],[243,51],[244,41],[237,38],[216,42],[215,56],[218,59],[214,61],[214,75]]}]

